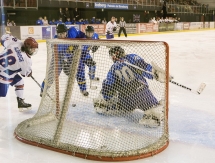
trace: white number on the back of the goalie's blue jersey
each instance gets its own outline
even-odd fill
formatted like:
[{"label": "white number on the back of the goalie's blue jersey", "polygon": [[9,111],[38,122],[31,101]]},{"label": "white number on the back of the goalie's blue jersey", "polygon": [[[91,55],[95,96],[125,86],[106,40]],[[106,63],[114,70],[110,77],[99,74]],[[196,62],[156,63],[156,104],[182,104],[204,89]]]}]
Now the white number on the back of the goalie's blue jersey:
[{"label": "white number on the back of the goalie's blue jersey", "polygon": [[127,66],[123,66],[121,70],[116,70],[115,72],[120,80],[123,80],[123,77],[127,82],[135,79],[134,73]]}]

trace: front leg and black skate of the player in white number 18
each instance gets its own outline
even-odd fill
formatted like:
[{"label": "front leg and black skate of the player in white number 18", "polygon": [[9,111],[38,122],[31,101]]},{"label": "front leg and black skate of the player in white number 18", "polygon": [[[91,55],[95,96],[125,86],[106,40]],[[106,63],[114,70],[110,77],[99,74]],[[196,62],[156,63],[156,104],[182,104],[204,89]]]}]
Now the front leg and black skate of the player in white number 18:
[{"label": "front leg and black skate of the player in white number 18", "polygon": [[23,99],[23,94],[24,94],[24,80],[17,74],[14,77],[14,80],[12,83],[10,83],[11,86],[15,86],[15,93],[17,96],[17,103],[18,103],[18,108],[19,111],[24,111],[24,110],[30,110],[31,109],[31,104],[25,103]]}]

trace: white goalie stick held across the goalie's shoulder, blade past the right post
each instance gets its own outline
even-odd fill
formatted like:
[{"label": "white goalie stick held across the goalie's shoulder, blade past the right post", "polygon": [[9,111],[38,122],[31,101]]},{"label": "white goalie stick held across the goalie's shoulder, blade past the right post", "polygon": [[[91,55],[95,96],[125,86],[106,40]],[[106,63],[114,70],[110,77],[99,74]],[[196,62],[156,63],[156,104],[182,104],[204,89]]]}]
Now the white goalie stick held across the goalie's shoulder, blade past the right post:
[{"label": "white goalie stick held across the goalie's shoulder, blade past the right post", "polygon": [[[144,70],[144,69],[142,69],[142,68],[140,68],[140,67],[138,67],[138,66],[136,66],[136,65],[133,65],[133,64],[131,64],[131,63],[129,63],[129,62],[126,62],[126,61],[123,61],[123,62],[126,63],[127,65],[130,65],[130,66],[132,66],[132,67],[134,67],[134,68],[136,68],[136,69],[142,70],[142,71],[144,71],[144,72],[146,72],[146,73],[149,73],[149,74],[151,74],[151,75],[154,76],[154,74],[153,74],[152,72],[146,71],[146,70]],[[184,86],[184,85],[182,85],[182,84],[180,84],[180,83],[178,83],[178,82],[173,81],[172,78],[173,78],[173,77],[170,76],[170,80],[169,80],[170,83],[175,84],[175,85],[177,85],[177,86],[179,86],[179,87],[181,87],[181,88],[184,88],[184,89],[186,89],[186,90],[189,90],[189,91],[191,91],[191,92],[193,92],[193,93],[201,94],[202,91],[203,91],[203,90],[205,89],[205,87],[206,87],[206,84],[205,84],[205,83],[201,83],[200,86],[199,86],[199,88],[198,88],[197,90],[193,90],[193,89],[191,89],[191,88],[189,88],[189,87],[186,87],[186,86]]]}]

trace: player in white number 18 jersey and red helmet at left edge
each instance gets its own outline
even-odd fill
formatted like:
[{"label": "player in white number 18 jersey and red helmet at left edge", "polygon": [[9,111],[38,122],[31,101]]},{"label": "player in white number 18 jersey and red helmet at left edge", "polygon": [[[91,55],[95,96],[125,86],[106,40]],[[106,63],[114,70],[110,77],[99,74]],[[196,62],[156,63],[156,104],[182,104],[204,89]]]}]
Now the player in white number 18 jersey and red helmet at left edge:
[{"label": "player in white number 18 jersey and red helmet at left edge", "polygon": [[24,102],[24,81],[18,73],[31,76],[31,56],[36,54],[38,43],[29,37],[23,44],[10,34],[5,34],[1,37],[1,44],[5,49],[0,53],[0,97],[6,97],[9,85],[15,86],[19,111],[31,109],[31,104]]}]

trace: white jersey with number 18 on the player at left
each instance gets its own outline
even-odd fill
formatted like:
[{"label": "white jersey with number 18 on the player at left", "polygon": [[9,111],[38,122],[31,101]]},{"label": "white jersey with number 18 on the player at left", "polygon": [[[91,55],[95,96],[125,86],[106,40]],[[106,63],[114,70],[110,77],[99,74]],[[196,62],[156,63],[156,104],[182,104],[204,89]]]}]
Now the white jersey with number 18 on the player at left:
[{"label": "white jersey with number 18 on the player at left", "polygon": [[10,84],[17,73],[23,76],[31,73],[31,58],[21,52],[21,45],[22,43],[10,44],[0,53],[0,83]]}]

